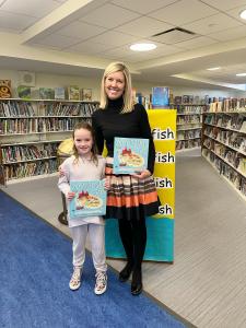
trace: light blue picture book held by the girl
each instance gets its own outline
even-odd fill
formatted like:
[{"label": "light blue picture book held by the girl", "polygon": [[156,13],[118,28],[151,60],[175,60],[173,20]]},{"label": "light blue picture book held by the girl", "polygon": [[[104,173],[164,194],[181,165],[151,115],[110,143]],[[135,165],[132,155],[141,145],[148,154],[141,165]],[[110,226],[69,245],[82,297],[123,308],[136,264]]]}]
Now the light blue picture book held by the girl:
[{"label": "light blue picture book held by the girl", "polygon": [[104,180],[71,181],[75,197],[69,203],[71,219],[104,215],[106,213],[106,190]]}]

